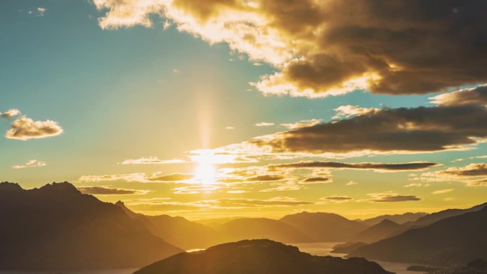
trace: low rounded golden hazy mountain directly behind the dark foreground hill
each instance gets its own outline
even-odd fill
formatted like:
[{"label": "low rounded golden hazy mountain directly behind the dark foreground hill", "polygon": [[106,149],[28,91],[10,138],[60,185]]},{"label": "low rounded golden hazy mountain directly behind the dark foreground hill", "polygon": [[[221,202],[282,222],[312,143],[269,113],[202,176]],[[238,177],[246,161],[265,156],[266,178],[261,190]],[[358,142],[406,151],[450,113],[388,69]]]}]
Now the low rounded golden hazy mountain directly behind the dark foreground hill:
[{"label": "low rounded golden hazy mountain directly behind the dark foreground hill", "polygon": [[305,243],[310,238],[297,228],[270,218],[238,218],[219,227],[228,241],[266,238],[283,243]]}]

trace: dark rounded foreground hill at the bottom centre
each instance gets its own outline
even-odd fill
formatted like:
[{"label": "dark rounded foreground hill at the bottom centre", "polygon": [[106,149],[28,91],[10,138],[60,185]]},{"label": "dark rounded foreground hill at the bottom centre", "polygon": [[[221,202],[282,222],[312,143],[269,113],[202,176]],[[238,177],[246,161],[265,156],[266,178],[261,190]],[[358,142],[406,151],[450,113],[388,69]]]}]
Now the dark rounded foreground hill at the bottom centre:
[{"label": "dark rounded foreground hill at the bottom centre", "polygon": [[342,259],[302,253],[269,240],[224,243],[206,251],[180,253],[134,274],[389,274],[363,258]]}]

